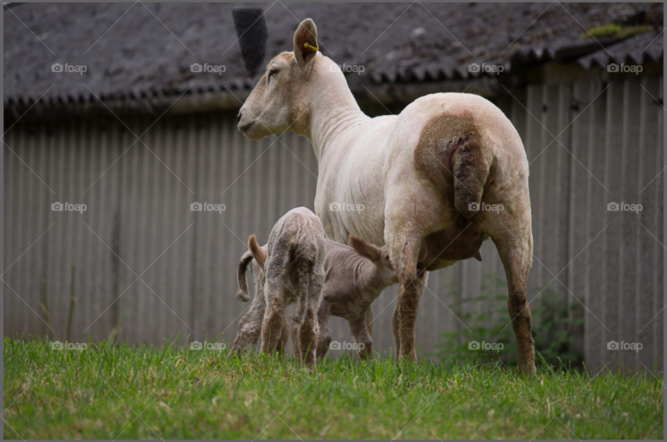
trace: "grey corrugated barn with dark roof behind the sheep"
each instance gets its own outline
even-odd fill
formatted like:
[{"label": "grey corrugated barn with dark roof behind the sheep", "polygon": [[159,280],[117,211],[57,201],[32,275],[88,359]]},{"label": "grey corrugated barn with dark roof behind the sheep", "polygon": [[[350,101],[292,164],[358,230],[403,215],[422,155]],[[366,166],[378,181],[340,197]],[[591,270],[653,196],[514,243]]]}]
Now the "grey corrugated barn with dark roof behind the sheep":
[{"label": "grey corrugated barn with dark roof behind the sheep", "polygon": [[[368,114],[434,92],[493,101],[530,163],[538,350],[593,370],[662,369],[655,3],[4,6],[5,336],[65,337],[74,297],[71,341],[231,342],[248,307],[234,298],[248,235],[265,241],[286,211],[313,208],[318,173],[308,139],[250,142],[236,130],[257,78],[231,11],[249,7],[264,10],[265,62],[311,17]],[[481,255],[429,276],[419,357],[511,337],[491,241]],[[393,346],[396,297],[387,289],[372,306],[377,350]],[[351,339],[342,320],[331,324]]]}]

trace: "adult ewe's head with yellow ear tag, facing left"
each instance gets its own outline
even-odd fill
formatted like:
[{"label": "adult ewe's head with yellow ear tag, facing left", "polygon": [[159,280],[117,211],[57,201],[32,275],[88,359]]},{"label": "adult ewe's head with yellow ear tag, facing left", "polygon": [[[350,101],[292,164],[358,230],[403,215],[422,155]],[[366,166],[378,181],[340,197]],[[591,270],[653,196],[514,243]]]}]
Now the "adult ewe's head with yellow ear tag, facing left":
[{"label": "adult ewe's head with yellow ear tag, facing left", "polygon": [[[331,69],[334,62],[318,53],[318,30],[305,19],[294,34],[294,52],[274,57],[266,72],[238,112],[238,130],[249,139],[295,131],[308,135],[308,110],[331,76],[345,76]],[[327,78],[322,78],[327,77]]]}]

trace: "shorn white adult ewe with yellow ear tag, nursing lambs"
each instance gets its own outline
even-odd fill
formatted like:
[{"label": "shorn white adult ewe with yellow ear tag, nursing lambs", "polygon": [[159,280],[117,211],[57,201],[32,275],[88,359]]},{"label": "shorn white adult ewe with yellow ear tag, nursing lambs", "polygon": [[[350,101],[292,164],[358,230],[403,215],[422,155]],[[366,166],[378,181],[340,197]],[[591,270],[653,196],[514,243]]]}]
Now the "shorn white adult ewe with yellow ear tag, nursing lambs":
[{"label": "shorn white adult ewe with yellow ear tag, nursing lambs", "polygon": [[[299,25],[293,44],[294,52],[267,65],[238,114],[238,129],[249,139],[290,130],[308,137],[319,161],[315,212],[327,237],[342,243],[352,233],[388,246],[400,284],[392,323],[397,354],[417,359],[415,320],[427,271],[481,259],[481,242],[491,237],[507,274],[518,364],[534,371],[528,162],[516,129],[472,94],[430,94],[398,115],[370,118],[337,65],[318,52],[311,19]],[[365,210],[332,211],[334,202]],[[504,210],[479,210],[493,204]]]}]

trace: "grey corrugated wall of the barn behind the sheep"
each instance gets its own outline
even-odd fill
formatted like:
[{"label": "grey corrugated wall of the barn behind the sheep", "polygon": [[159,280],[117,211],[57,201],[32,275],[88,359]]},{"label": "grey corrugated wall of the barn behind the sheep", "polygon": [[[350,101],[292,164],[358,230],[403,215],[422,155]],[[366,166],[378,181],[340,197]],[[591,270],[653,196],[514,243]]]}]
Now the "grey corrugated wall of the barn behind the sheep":
[{"label": "grey corrugated wall of the barn behind the sheep", "polygon": [[[661,78],[611,83],[604,91],[598,83],[532,85],[498,100],[531,163],[529,300],[538,310],[548,297],[548,314],[569,318],[572,348],[592,368],[652,367],[656,358],[662,366],[663,174],[653,178],[663,167],[664,111],[651,95],[663,96]],[[131,121],[129,129],[115,120],[12,128],[4,157],[4,333],[47,332],[38,305],[45,278],[53,329],[64,337],[74,263],[73,340],[88,333],[103,339],[122,324],[120,339],[129,341],[161,343],[178,334],[202,340],[204,329],[207,337],[224,331],[231,341],[248,306],[234,298],[248,235],[265,241],[287,210],[313,208],[318,169],[307,139],[250,142],[235,121],[220,113],[164,117],[154,126]],[[145,133],[142,141],[130,130]],[[53,212],[56,201],[88,209]],[[195,201],[226,210],[192,212]],[[643,210],[609,212],[611,202],[641,203]],[[504,300],[461,305],[479,296],[487,275],[504,280],[491,241],[481,254],[481,263],[429,275],[417,326],[420,355],[434,354],[441,332],[468,326],[466,313],[509,321],[496,313]],[[393,346],[396,296],[397,287],[388,289],[372,306],[377,350]],[[534,323],[543,319],[534,316]],[[331,328],[336,339],[350,339],[339,318]],[[641,342],[643,349],[612,352],[611,340]]]}]

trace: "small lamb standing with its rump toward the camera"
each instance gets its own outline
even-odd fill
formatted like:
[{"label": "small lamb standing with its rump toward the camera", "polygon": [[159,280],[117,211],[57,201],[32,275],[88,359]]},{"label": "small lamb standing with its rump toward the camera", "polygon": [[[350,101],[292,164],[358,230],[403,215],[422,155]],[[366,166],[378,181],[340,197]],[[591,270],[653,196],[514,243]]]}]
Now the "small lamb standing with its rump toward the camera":
[{"label": "small lamb standing with its rump toward the camera", "polygon": [[273,226],[267,250],[257,244],[255,235],[250,235],[248,248],[261,268],[266,303],[262,351],[277,350],[286,330],[285,307],[295,302],[294,345],[302,362],[312,366],[318,344],[316,312],[324,286],[324,229],[320,219],[306,207],[297,207]]}]

